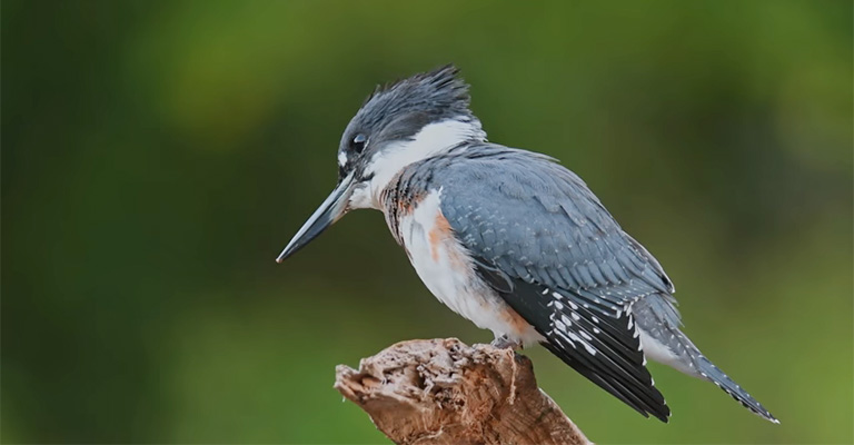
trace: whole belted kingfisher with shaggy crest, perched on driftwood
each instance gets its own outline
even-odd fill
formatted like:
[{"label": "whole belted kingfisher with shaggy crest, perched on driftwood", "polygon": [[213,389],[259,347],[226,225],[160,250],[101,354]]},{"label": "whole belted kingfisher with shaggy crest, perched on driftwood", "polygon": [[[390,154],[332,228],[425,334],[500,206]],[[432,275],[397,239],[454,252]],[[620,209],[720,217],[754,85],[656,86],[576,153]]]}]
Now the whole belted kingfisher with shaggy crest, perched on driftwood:
[{"label": "whole belted kingfisher with shaggy crest, perched on driftwood", "polygon": [[338,186],[277,261],[371,208],[427,288],[495,334],[542,344],[638,413],[667,422],[646,358],[714,383],[773,422],[679,330],[674,287],[574,172],[488,142],[454,66],[377,87],[344,131]]}]

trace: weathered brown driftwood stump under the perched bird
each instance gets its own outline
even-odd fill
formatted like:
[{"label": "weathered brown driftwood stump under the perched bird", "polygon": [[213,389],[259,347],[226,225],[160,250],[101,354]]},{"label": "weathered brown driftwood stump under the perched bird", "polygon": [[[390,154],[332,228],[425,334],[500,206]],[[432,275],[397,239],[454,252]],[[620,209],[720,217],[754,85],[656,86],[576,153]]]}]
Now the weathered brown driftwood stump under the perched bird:
[{"label": "weathered brown driftwood stump under the perched bird", "polygon": [[530,360],[456,338],[409,340],[336,368],[335,388],[397,444],[588,444]]}]

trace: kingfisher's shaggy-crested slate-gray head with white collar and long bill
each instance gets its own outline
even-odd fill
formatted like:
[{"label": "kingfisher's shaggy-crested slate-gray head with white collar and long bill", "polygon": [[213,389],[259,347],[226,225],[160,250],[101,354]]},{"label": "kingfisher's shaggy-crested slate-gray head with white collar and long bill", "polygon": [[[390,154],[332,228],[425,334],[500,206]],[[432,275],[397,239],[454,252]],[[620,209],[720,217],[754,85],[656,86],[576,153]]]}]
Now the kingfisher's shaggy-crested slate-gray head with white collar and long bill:
[{"label": "kingfisher's shaggy-crested slate-gray head with white collar and long bill", "polygon": [[377,88],[344,130],[338,186],[279,255],[282,261],[347,211],[379,207],[400,169],[466,141],[486,139],[468,108],[468,85],[448,65]]}]

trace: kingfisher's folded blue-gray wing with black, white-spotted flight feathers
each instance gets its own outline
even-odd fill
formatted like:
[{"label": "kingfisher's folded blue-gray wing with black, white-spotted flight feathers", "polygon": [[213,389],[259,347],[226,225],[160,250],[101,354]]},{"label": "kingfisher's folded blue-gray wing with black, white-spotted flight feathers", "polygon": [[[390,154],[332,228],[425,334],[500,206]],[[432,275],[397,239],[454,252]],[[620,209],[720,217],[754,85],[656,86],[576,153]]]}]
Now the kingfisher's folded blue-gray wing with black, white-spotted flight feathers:
[{"label": "kingfisher's folded blue-gray wing with black, white-spotted flight feathers", "polygon": [[546,348],[644,415],[666,422],[632,303],[671,294],[655,258],[575,174],[540,155],[488,146],[433,166],[441,211],[478,274]]}]

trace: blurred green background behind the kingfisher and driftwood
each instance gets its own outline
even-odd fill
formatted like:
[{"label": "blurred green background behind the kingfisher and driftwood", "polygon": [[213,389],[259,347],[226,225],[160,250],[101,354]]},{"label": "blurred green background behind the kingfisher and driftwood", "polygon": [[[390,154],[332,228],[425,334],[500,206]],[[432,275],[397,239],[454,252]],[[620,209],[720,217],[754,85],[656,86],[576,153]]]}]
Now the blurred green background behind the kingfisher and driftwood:
[{"label": "blurred green background behind the kingfisher and driftwood", "polygon": [[385,443],[331,387],[490,335],[379,212],[274,258],[375,83],[447,62],[490,140],[584,177],[781,421],[652,365],[645,419],[542,348],[600,443],[852,443],[850,1],[2,2],[2,441]]}]

